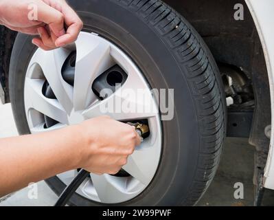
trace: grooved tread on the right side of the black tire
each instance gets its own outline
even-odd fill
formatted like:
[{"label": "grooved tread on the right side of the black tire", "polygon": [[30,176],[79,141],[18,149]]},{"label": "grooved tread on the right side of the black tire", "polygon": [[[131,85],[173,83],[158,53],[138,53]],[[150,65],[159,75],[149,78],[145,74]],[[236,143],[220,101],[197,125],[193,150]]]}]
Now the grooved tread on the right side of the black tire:
[{"label": "grooved tread on the right side of the black tire", "polygon": [[218,67],[198,33],[165,3],[159,0],[120,3],[137,8],[140,19],[148,22],[161,36],[179,62],[192,91],[201,137],[200,159],[190,192],[181,201],[183,205],[192,206],[201,198],[216,173],[225,138],[225,96]]}]

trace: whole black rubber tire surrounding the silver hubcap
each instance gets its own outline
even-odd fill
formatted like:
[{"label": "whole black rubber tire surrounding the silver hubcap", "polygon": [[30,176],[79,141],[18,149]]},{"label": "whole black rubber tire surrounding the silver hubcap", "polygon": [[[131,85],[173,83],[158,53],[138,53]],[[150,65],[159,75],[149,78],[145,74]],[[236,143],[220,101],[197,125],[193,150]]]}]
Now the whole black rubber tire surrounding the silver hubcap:
[{"label": "whole black rubber tire surrounding the silver hubcap", "polygon": [[[226,104],[218,67],[201,36],[158,0],[69,1],[84,30],[109,39],[130,56],[153,88],[174,89],[174,119],[162,122],[163,151],[151,184],[123,206],[192,206],[212,181],[225,137]],[[36,48],[19,34],[10,64],[10,96],[17,127],[29,133],[25,72]],[[59,195],[65,185],[47,184]],[[102,204],[73,195],[71,205]]]}]

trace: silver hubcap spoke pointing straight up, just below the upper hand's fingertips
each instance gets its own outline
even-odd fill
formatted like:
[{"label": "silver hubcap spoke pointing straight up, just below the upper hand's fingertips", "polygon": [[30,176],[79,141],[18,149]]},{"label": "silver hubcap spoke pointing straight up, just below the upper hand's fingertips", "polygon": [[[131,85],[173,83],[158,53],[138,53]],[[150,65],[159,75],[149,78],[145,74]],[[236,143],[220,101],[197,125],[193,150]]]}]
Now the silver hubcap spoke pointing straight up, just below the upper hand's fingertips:
[{"label": "silver hubcap spoke pointing straight up, just below the upper hand's fingertips", "polygon": [[[96,41],[91,40],[93,37]],[[114,63],[109,55],[109,43],[93,34],[79,36],[76,41],[76,50],[74,109],[80,111],[96,100],[91,89],[95,78],[112,67]]]}]

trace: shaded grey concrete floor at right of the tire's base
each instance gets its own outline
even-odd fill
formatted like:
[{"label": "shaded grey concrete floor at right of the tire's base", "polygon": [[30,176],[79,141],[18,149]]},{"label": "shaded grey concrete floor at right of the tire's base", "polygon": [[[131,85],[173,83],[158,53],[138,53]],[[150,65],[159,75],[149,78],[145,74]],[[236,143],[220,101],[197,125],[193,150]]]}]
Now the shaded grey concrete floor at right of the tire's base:
[{"label": "shaded grey concrete floor at right of the tire's base", "polygon": [[[220,166],[198,206],[253,206],[254,147],[248,139],[227,138]],[[235,199],[234,184],[244,186],[244,199]],[[262,206],[274,205],[274,191],[266,190]]]}]

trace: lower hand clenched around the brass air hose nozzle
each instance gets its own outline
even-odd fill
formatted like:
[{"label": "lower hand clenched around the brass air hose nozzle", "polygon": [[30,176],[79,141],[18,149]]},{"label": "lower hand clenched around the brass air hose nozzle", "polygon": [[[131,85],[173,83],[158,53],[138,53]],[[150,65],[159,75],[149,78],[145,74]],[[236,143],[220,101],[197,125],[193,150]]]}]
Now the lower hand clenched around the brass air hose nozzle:
[{"label": "lower hand clenched around the brass air hose nozzle", "polygon": [[[126,165],[128,156],[141,138],[134,126],[117,122],[108,116],[93,118],[79,125],[83,158],[81,168],[95,174],[116,174]],[[82,136],[82,135],[81,135]]]}]

